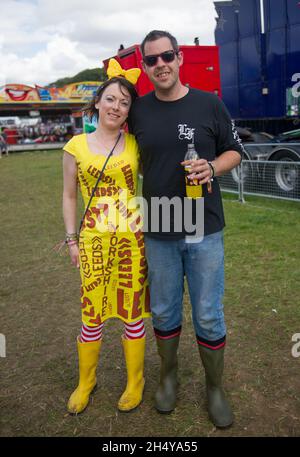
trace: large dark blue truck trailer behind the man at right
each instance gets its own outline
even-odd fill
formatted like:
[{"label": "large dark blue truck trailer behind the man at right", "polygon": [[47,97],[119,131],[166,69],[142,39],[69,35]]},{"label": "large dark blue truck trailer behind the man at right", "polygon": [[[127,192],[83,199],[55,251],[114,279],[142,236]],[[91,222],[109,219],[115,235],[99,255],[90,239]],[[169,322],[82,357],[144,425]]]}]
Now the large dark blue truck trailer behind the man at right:
[{"label": "large dark blue truck trailer behind the man at right", "polygon": [[272,135],[299,128],[299,2],[214,4],[222,99],[236,125]]}]

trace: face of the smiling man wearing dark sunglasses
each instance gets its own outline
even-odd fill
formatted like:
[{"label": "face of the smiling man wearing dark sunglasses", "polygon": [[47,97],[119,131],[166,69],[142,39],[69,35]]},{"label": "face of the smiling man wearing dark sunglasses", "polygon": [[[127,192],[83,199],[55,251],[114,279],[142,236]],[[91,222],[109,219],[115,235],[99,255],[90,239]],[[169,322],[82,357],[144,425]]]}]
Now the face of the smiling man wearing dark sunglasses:
[{"label": "face of the smiling man wearing dark sunglasses", "polygon": [[[155,41],[145,43],[144,54],[146,56],[158,55],[166,51],[174,51],[171,41],[167,37],[159,38]],[[172,62],[164,62],[162,57],[158,57],[153,66],[149,66],[143,61],[143,68],[156,90],[169,91],[179,81],[179,67],[183,63],[182,53],[175,54]]]}]

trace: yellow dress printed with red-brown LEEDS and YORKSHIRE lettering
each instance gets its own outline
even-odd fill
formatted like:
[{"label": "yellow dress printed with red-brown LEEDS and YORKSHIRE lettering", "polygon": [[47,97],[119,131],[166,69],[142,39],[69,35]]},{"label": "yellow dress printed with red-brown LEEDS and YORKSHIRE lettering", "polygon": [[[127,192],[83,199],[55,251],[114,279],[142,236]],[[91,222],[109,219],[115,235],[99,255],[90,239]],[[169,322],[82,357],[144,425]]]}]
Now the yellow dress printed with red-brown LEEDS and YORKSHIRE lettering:
[{"label": "yellow dress printed with red-brown LEEDS and YORKSHIRE lettering", "polygon": [[[64,150],[77,163],[87,206],[106,157],[88,147],[87,134]],[[112,155],[86,214],[79,237],[82,321],[98,326],[111,317],[133,322],[150,317],[142,217],[136,201],[138,146],[125,134],[121,154]]]}]

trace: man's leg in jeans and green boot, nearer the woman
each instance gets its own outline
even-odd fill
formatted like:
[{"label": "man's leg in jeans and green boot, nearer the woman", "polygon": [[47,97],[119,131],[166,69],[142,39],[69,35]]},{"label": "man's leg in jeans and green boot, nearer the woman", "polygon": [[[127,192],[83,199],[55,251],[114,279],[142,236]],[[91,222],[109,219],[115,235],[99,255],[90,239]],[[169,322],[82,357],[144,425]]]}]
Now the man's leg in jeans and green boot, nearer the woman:
[{"label": "man's leg in jeans and green boot, nearer the woman", "polygon": [[177,350],[182,321],[184,240],[160,241],[145,236],[145,247],[152,322],[161,359],[155,407],[161,413],[170,413],[176,406],[178,385]]}]

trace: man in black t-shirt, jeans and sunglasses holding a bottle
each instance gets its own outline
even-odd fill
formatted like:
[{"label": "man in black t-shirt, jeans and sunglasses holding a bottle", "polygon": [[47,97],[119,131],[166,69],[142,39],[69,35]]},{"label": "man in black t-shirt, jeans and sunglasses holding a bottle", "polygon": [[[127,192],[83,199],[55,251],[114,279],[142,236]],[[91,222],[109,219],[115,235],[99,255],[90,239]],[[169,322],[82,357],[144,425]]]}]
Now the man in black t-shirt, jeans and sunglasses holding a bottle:
[{"label": "man in black t-shirt, jeans and sunglasses holding a bottle", "polygon": [[[141,51],[144,71],[155,90],[136,101],[130,123],[140,147],[148,210],[145,246],[153,327],[161,358],[155,406],[161,413],[176,406],[177,349],[186,276],[206,374],[209,417],[216,426],[227,427],[233,422],[233,414],[222,388],[225,222],[219,184],[213,178],[237,166],[243,148],[222,101],[181,83],[179,68],[184,56],[171,34],[150,32]],[[184,161],[188,144],[194,145],[200,158]],[[189,179],[202,185],[204,197],[194,200],[189,211],[185,211],[184,166],[190,167]],[[162,205],[158,221],[154,214],[153,202],[157,200],[174,203],[167,229],[163,222],[166,207]],[[184,224],[179,223],[181,217]],[[191,219],[189,224],[186,217]],[[198,230],[198,226],[203,229]]]}]

